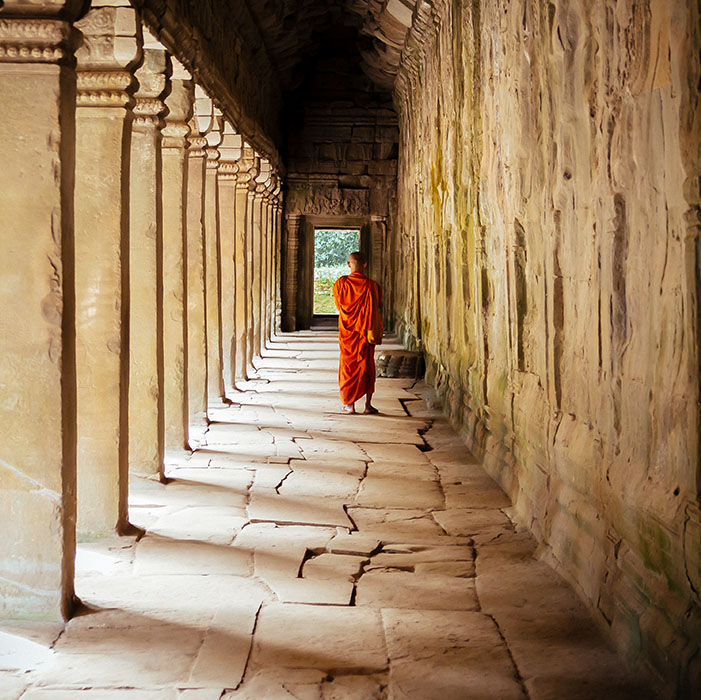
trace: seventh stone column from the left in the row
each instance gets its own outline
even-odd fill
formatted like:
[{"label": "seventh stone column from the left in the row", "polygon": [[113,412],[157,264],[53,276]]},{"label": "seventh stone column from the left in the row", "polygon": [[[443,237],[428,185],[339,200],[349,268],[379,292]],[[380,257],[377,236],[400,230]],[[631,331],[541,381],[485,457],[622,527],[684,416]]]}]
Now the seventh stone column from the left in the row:
[{"label": "seventh stone column from the left in the row", "polygon": [[243,139],[224,122],[219,146],[219,241],[221,249],[221,331],[224,388],[235,391],[236,381],[236,182]]}]

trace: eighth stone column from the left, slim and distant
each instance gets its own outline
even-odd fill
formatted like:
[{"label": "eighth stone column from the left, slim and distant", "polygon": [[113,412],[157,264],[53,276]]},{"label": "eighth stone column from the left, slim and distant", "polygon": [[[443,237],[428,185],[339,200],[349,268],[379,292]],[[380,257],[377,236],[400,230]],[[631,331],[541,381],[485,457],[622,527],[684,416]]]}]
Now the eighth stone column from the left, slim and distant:
[{"label": "eighth stone column from the left, slim and distant", "polygon": [[248,377],[251,265],[249,185],[258,173],[253,151],[244,144],[236,177],[236,378]]}]

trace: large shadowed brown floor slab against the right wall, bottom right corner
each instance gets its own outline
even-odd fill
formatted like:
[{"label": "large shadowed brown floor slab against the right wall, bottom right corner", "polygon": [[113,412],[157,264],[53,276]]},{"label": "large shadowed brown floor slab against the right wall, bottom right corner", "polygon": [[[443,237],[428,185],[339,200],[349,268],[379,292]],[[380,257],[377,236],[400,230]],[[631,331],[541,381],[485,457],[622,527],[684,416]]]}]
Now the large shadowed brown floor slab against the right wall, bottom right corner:
[{"label": "large shadowed brown floor slab against the right wall, bottom right corner", "polygon": [[[477,548],[482,609],[502,629],[534,700],[647,698],[584,603],[545,562],[529,533]],[[566,669],[566,672],[563,670]]]}]

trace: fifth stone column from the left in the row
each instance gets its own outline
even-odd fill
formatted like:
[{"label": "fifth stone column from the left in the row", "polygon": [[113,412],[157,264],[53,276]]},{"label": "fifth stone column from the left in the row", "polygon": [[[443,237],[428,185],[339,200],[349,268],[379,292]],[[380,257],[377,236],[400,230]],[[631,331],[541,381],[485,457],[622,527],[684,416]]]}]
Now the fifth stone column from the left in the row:
[{"label": "fifth stone column from the left in the row", "polygon": [[[205,146],[197,121],[190,121],[187,165],[187,386],[189,423],[207,424],[207,336],[204,306],[204,178]],[[188,443],[190,430],[188,430]]]}]

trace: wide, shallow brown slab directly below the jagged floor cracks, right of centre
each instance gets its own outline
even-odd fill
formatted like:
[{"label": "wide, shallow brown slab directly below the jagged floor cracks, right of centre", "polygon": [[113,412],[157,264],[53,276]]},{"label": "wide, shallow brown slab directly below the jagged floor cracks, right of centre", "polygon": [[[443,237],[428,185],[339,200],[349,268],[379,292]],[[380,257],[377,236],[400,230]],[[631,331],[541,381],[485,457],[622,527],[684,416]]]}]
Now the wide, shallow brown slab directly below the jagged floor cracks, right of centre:
[{"label": "wide, shallow brown slab directly below the jagged floor cracks, right of centre", "polygon": [[479,609],[472,578],[393,570],[363,574],[356,586],[355,604],[414,610]]}]

